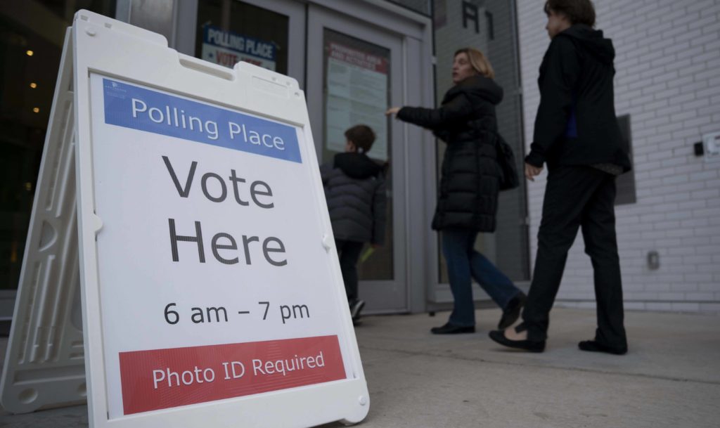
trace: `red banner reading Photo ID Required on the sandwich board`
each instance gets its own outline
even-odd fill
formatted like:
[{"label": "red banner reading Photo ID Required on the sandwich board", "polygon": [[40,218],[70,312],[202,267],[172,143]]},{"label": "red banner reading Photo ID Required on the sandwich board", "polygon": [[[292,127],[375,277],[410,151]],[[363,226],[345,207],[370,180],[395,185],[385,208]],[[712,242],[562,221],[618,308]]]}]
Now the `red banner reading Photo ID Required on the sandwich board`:
[{"label": "red banner reading Photo ID Required on the sandwich board", "polygon": [[124,414],[346,378],[337,336],[120,352]]}]

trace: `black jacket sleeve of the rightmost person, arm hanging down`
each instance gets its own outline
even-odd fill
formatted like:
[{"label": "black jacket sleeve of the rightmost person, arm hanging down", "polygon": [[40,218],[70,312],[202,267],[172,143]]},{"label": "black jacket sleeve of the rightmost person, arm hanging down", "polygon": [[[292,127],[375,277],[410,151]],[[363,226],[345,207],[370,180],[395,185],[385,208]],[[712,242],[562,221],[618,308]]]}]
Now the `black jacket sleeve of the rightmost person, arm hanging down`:
[{"label": "black jacket sleeve of the rightmost person, arm hanging down", "polygon": [[572,109],[572,91],[580,76],[580,58],[572,40],[556,36],[540,66],[540,106],[533,142],[525,161],[542,167],[547,153],[561,139]]}]

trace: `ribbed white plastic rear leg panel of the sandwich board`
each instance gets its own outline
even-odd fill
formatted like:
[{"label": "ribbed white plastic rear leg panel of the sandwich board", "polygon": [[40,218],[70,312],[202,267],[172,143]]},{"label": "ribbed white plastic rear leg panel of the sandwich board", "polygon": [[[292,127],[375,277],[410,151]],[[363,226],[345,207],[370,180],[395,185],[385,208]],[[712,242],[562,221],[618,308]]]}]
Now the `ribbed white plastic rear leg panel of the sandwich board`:
[{"label": "ribbed white plastic rear leg panel of the sandwich board", "polygon": [[14,413],[86,397],[70,40],[68,29],[2,371],[0,398]]}]

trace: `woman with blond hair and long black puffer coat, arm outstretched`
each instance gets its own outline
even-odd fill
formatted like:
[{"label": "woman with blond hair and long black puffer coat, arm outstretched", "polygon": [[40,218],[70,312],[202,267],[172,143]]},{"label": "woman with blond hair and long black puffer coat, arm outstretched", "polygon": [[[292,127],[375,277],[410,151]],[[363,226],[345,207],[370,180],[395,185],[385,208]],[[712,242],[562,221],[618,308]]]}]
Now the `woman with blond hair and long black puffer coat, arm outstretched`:
[{"label": "woman with blond hair and long black puffer coat, arm outstretched", "polygon": [[503,99],[503,88],[492,80],[494,76],[492,65],[479,50],[460,49],[452,67],[455,86],[438,109],[392,107],[387,111],[404,122],[431,129],[447,143],[432,227],[442,234],[454,306],[449,321],[431,329],[434,334],[475,331],[471,277],[503,308],[499,328],[518,319],[525,299],[513,281],[474,250],[478,232],[495,232],[498,211],[501,172],[495,148],[495,105]]}]

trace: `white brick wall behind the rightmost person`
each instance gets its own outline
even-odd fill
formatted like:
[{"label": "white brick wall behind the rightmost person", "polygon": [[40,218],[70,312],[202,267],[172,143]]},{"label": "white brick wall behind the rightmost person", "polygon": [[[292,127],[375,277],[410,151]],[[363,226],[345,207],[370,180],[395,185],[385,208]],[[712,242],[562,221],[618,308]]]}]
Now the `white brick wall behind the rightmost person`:
[{"label": "white brick wall behind the rightmost person", "polygon": [[[720,161],[693,143],[720,132],[720,0],[595,0],[597,27],[616,49],[615,105],[629,114],[637,201],[616,207],[627,309],[720,311]],[[517,0],[526,150],[548,44],[543,1]],[[528,186],[532,260],[545,173]],[[578,234],[558,294],[594,300],[593,270]],[[647,253],[660,254],[649,270]]]}]

